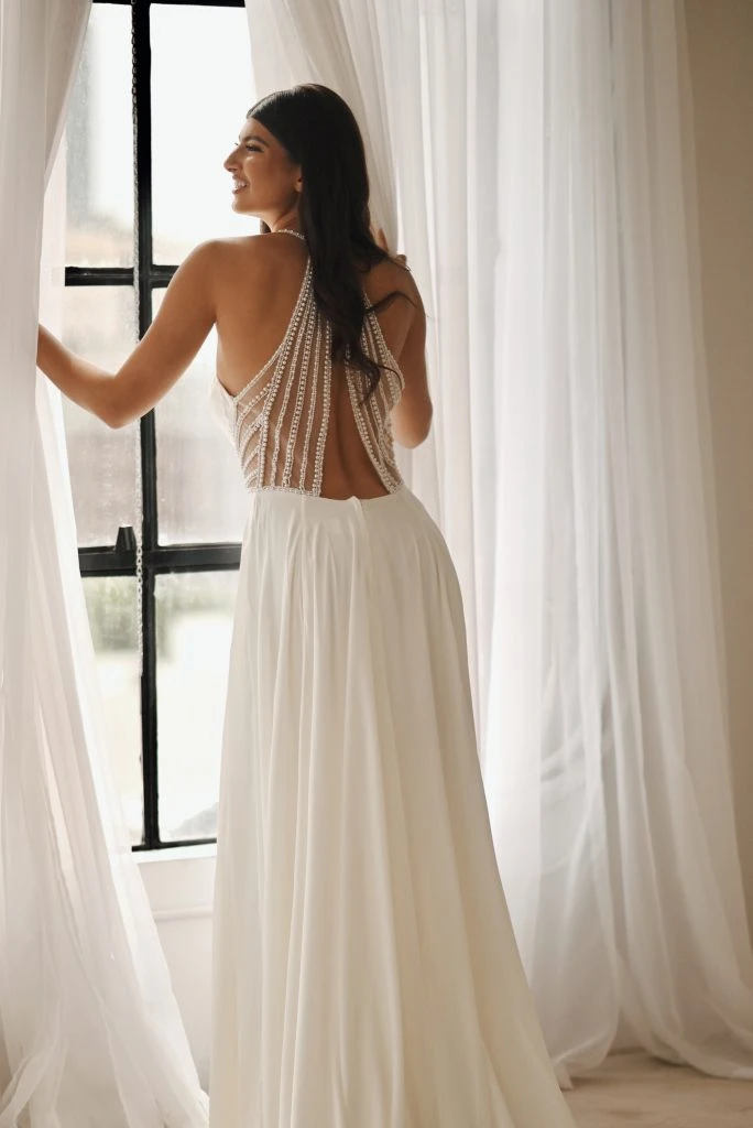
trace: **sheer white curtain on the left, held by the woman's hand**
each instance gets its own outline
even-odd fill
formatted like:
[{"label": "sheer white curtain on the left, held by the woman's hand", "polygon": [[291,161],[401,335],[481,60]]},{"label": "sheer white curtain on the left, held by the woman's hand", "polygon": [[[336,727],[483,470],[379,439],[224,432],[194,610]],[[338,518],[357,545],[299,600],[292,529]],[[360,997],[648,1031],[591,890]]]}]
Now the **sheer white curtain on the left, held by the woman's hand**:
[{"label": "sheer white curtain on the left, held by the woman's hand", "polygon": [[88,15],[0,12],[0,1128],[198,1128],[206,1098],[107,772],[60,397],[35,368],[43,213],[57,328],[53,164]]}]

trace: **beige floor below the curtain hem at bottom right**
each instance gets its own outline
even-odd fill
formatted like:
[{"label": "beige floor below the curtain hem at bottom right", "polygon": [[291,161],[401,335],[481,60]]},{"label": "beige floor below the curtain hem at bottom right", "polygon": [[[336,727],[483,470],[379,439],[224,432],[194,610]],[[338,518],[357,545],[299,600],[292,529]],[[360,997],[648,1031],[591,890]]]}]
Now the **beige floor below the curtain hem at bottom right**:
[{"label": "beige floor below the curtain hem at bottom right", "polygon": [[618,1054],[567,1100],[578,1128],[753,1128],[753,1082],[720,1081],[645,1054]]}]

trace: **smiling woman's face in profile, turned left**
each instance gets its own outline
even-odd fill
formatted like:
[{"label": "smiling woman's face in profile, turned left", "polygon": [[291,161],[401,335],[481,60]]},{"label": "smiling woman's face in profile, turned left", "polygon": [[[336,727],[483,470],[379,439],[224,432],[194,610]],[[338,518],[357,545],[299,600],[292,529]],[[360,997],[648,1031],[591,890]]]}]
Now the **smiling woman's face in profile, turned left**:
[{"label": "smiling woman's face in profile, turned left", "polygon": [[294,165],[276,138],[247,117],[238,134],[238,144],[224,161],[232,176],[232,210],[245,215],[278,215],[298,203],[302,184],[300,166]]}]

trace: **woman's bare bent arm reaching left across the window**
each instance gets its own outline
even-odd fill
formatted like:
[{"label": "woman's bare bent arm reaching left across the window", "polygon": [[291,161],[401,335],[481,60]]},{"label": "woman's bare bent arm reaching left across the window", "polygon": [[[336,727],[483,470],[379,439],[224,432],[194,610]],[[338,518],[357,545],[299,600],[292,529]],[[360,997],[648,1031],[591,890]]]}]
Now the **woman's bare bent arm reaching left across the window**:
[{"label": "woman's bare bent arm reaching left across the window", "polygon": [[63,395],[110,428],[145,415],[183,376],[214,325],[218,246],[202,243],[186,256],[148,333],[115,374],[77,356],[42,325],[37,365]]}]

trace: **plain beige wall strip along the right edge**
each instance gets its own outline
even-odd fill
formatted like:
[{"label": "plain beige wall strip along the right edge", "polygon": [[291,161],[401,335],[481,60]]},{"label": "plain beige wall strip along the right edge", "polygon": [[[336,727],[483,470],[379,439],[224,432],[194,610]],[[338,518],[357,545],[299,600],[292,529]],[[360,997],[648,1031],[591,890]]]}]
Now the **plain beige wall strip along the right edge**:
[{"label": "plain beige wall strip along the right edge", "polygon": [[685,0],[738,840],[753,924],[753,0]]}]

